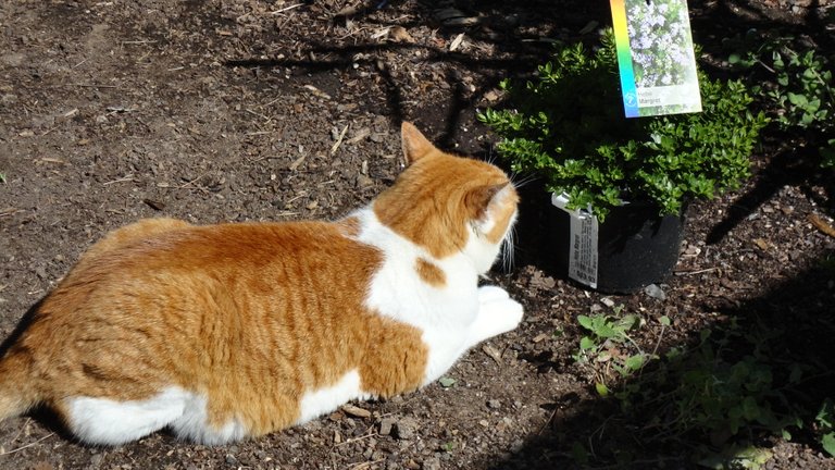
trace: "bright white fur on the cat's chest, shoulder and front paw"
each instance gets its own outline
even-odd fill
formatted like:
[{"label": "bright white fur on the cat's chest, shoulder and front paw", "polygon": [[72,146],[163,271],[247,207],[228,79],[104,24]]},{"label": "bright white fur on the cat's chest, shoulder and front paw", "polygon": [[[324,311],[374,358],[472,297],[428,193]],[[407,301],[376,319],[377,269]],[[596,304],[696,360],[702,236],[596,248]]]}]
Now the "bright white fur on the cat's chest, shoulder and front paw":
[{"label": "bright white fur on the cat's chest, shoulder and front paw", "polygon": [[[382,225],[372,210],[363,209],[354,215],[362,226],[359,239],[378,248],[384,256],[365,302],[379,314],[423,332],[429,352],[423,385],[438,379],[466,349],[512,330],[521,320],[522,307],[502,289],[478,288],[481,261],[472,259],[476,248],[468,246],[462,253],[435,259]],[[420,259],[443,271],[443,285],[433,286],[421,279],[415,269]],[[485,309],[487,300],[491,307]]]}]

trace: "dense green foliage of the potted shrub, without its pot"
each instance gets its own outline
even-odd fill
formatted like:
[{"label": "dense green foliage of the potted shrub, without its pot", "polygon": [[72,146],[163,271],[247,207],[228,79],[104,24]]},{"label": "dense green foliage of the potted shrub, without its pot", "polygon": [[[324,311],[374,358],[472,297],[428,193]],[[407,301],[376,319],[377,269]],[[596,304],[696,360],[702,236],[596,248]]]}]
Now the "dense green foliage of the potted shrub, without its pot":
[{"label": "dense green foliage of the potted shrub, without its pot", "polygon": [[650,200],[674,214],[687,199],[737,188],[765,124],[748,110],[752,98],[740,82],[703,74],[701,113],[625,119],[611,33],[596,52],[561,47],[535,79],[501,87],[514,108],[478,115],[501,137],[500,154],[600,220],[622,200]]}]

